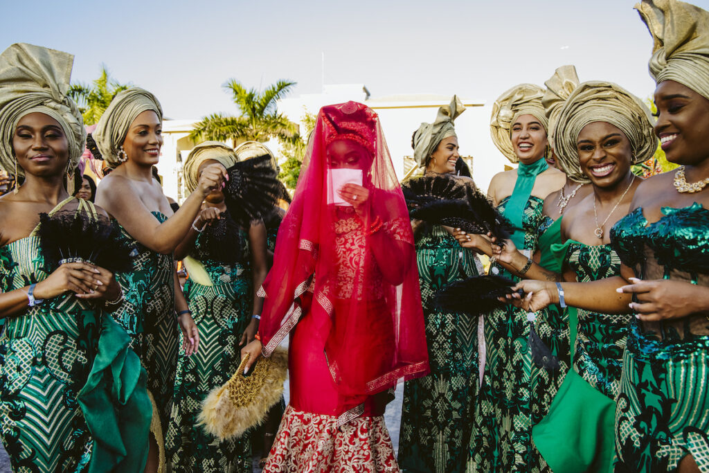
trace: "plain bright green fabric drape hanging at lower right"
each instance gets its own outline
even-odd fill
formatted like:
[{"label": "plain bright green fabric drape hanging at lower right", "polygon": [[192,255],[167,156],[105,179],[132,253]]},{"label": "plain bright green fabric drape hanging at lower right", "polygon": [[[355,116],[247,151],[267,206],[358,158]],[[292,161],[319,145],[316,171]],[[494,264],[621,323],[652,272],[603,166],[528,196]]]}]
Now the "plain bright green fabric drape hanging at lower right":
[{"label": "plain bright green fabric drape hanging at lower right", "polygon": [[[569,309],[573,353],[579,319],[576,309]],[[532,427],[532,440],[554,473],[612,472],[614,423],[615,401],[588,384],[572,365],[549,413]]]}]

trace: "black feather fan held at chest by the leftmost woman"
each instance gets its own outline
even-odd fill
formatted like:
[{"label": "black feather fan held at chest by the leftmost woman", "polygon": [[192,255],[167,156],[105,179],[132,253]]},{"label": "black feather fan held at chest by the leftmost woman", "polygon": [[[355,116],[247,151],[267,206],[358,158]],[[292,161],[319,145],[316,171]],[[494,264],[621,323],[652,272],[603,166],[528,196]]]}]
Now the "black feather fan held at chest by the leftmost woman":
[{"label": "black feather fan held at chest by the leftmost woman", "polygon": [[133,246],[121,238],[121,230],[105,216],[93,218],[73,210],[52,216],[40,213],[38,237],[47,272],[67,260],[91,262],[111,272],[133,268]]}]

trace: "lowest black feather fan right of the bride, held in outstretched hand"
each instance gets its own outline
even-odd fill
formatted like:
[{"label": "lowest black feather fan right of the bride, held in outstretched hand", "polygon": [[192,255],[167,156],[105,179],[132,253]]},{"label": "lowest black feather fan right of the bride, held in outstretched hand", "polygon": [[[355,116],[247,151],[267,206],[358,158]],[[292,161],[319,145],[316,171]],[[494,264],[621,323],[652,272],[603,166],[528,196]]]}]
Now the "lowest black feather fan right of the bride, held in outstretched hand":
[{"label": "lowest black feather fan right of the bride, held in outstretched hand", "polygon": [[501,276],[477,276],[448,284],[436,294],[435,305],[443,310],[473,315],[502,307],[497,298],[512,294],[515,282]]}]

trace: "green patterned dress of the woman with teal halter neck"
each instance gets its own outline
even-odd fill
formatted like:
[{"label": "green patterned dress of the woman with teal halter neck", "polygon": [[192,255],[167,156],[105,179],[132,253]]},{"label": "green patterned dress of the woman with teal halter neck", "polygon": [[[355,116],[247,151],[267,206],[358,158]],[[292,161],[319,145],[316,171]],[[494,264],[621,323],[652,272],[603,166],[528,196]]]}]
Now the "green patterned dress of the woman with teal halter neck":
[{"label": "green patterned dress of the woman with teal halter neck", "polygon": [[[498,211],[503,213],[508,200],[501,201]],[[543,205],[542,199],[531,196],[523,210],[524,243],[518,247],[531,253],[537,249]],[[498,265],[493,265],[495,271],[503,273]],[[533,385],[533,380],[543,379],[535,374],[539,368],[532,361],[529,346],[534,318],[513,306],[485,315],[485,374],[476,399],[468,472],[548,471],[532,445],[532,412],[540,411],[532,406],[545,402],[535,397]]]}]

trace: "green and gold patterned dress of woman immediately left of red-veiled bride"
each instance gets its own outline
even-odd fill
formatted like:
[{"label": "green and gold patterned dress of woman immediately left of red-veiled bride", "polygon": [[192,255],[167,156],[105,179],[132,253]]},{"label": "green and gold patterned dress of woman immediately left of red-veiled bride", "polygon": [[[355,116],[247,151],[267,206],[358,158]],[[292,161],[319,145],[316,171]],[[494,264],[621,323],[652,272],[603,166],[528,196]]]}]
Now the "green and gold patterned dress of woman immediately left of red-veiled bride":
[{"label": "green and gold patterned dress of woman immediately left of red-veiled bride", "polygon": [[[223,213],[222,219],[230,218]],[[212,255],[200,233],[191,257],[206,269],[212,286],[187,279],[184,294],[199,330],[199,350],[186,357],[180,347],[172,416],[165,447],[173,472],[251,472],[250,433],[240,438],[218,440],[197,425],[203,399],[236,372],[240,362],[239,342],[251,321],[252,271],[247,235],[227,235],[233,261]],[[224,250],[226,253],[227,250]],[[182,345],[182,343],[181,343]]]}]

